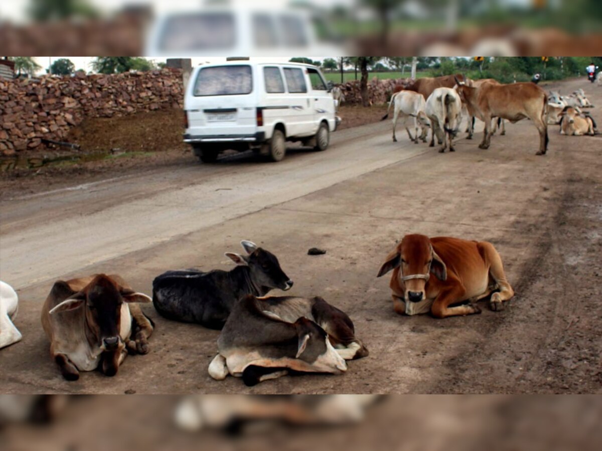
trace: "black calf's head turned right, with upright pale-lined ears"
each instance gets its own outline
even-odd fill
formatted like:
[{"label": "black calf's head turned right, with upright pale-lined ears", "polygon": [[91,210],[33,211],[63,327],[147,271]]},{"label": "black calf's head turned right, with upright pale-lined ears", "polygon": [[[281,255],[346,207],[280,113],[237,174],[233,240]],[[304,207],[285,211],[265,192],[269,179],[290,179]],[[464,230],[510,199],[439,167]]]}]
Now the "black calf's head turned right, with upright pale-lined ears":
[{"label": "black calf's head turned right, with upright pale-lined ears", "polygon": [[284,274],[280,263],[274,254],[266,251],[250,241],[241,241],[240,243],[247,256],[241,256],[235,253],[226,253],[226,257],[234,263],[241,266],[249,266],[251,280],[258,287],[265,289],[279,288],[281,290],[290,290],[293,281]]}]

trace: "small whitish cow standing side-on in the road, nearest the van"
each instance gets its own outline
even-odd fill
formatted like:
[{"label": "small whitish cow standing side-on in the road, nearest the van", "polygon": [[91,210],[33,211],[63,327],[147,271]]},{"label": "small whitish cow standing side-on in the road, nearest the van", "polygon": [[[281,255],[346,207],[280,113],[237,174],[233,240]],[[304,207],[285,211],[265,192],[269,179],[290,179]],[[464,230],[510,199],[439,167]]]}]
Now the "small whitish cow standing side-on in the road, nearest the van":
[{"label": "small whitish cow standing side-on in the road, nearest the van", "polygon": [[[424,112],[426,108],[426,101],[424,100],[424,96],[422,94],[418,94],[415,91],[399,91],[393,96],[391,96],[391,100],[389,101],[389,108],[386,110],[386,114],[382,117],[381,120],[385,120],[389,117],[389,110],[391,109],[391,105],[393,106],[393,142],[397,142],[397,137],[395,136],[395,129],[397,126],[397,120],[399,117],[402,117],[403,125],[406,128],[406,132],[408,132],[408,137],[411,141],[418,144],[418,125],[420,125],[420,139],[423,143],[426,143],[426,137],[429,133],[430,121]],[[408,129],[408,118],[414,118],[414,138],[412,138],[412,133]]]}]

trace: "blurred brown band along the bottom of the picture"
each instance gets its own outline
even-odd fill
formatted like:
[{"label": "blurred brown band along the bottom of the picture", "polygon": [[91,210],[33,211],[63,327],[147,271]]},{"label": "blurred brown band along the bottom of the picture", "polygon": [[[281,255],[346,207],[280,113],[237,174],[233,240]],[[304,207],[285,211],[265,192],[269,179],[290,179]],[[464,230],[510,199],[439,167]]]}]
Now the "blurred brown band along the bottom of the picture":
[{"label": "blurred brown band along the bottom of the picture", "polygon": [[37,450],[598,450],[596,395],[0,395],[0,443]]}]

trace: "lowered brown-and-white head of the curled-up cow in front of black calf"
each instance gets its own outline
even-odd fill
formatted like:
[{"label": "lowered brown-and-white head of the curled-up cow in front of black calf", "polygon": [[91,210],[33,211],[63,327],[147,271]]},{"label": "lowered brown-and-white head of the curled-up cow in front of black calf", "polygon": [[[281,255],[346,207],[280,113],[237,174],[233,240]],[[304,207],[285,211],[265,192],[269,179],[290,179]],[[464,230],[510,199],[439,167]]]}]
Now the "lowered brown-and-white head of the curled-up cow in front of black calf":
[{"label": "lowered brown-and-white head of the curled-up cow in front of black calf", "polygon": [[346,361],[330,344],[323,328],[305,317],[297,319],[294,326],[299,343],[295,358],[311,364],[320,373],[340,374],[347,370]]}]

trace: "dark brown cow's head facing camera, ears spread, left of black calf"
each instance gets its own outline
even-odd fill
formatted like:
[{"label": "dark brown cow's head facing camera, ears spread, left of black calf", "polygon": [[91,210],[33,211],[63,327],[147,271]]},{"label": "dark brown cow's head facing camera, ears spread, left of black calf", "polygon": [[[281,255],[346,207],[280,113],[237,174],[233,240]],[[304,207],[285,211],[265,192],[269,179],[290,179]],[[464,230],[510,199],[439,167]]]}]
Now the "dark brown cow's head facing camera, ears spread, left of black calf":
[{"label": "dark brown cow's head facing camera, ears spread, left of black calf", "polygon": [[[127,302],[151,302],[143,293],[134,292],[104,274],[97,275],[80,292],[69,296],[50,310],[50,314],[85,308],[87,327],[102,351],[125,346],[121,337],[122,307]],[[129,321],[129,318],[124,318]]]}]

